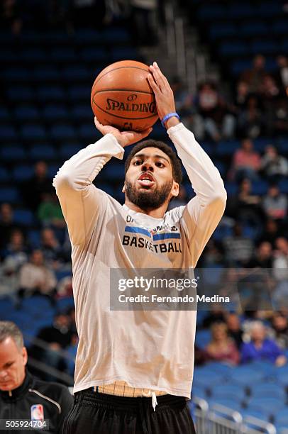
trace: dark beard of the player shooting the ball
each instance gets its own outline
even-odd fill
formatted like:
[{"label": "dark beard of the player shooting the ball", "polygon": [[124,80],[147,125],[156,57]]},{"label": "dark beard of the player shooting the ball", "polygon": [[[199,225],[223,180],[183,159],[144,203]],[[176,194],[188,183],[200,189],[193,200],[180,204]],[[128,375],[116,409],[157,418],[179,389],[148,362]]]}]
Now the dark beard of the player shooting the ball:
[{"label": "dark beard of the player shooting the ball", "polygon": [[160,208],[160,206],[167,201],[172,189],[173,179],[154,191],[152,189],[138,191],[135,187],[135,184],[133,185],[129,181],[126,181],[125,185],[126,195],[129,201],[138,206],[140,209],[148,211]]}]

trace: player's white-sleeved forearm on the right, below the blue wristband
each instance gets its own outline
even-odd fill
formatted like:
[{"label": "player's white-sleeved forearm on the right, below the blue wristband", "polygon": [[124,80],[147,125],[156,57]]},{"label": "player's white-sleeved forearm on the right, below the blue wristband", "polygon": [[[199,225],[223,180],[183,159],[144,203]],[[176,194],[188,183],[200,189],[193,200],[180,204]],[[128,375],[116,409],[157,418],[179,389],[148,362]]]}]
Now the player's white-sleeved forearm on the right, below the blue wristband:
[{"label": "player's white-sleeved forearm on the right, below the blue wristband", "polygon": [[187,171],[192,187],[201,204],[215,199],[226,202],[223,180],[210,157],[196,142],[194,134],[182,123],[167,130]]}]

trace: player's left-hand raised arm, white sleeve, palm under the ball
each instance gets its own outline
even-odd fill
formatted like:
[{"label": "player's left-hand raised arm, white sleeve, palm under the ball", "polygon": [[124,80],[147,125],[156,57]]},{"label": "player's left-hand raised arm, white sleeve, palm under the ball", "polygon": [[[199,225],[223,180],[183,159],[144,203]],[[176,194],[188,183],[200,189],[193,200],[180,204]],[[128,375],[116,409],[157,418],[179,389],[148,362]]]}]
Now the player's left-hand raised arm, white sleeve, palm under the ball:
[{"label": "player's left-hand raised arm, white sleeve, palm under the ball", "polygon": [[94,178],[111,157],[123,158],[124,146],[150,133],[122,133],[111,126],[101,126],[96,120],[95,124],[104,137],[67,160],[53,180],[74,245],[89,240],[95,218],[103,215],[106,206],[106,194],[92,184]]}]

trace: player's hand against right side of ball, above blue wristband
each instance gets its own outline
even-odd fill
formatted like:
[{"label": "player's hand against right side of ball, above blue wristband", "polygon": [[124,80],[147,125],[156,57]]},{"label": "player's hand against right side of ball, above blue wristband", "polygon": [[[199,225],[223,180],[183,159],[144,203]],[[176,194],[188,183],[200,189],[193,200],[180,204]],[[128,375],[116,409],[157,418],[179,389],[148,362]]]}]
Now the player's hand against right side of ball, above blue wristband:
[{"label": "player's hand against right side of ball, above blue wristband", "polygon": [[[150,65],[149,69],[148,82],[155,93],[158,116],[162,120],[168,113],[175,113],[176,111],[174,94],[167,78],[162,74],[157,63],[153,62],[153,65]],[[168,119],[165,126],[166,128],[170,128],[170,126],[177,125],[177,123],[179,123],[179,120],[173,117]]]}]

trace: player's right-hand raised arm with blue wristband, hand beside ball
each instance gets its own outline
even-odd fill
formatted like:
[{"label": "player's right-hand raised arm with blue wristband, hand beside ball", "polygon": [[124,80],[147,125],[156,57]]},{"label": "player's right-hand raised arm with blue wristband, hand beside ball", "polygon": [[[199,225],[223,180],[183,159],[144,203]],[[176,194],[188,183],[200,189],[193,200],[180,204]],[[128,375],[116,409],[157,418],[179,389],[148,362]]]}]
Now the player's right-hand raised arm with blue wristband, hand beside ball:
[{"label": "player's right-hand raised arm with blue wristband, hand beside ball", "polygon": [[[175,112],[173,92],[156,63],[150,67],[150,71],[153,76],[150,75],[148,79],[155,92],[159,117],[163,119],[169,113]],[[194,134],[179,122],[177,116],[168,117],[165,127],[196,193],[182,214],[184,230],[191,246],[192,266],[195,267],[202,250],[223,216],[226,190],[218,169],[196,142]]]}]

